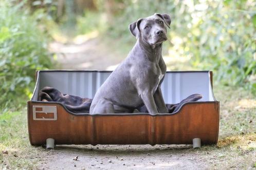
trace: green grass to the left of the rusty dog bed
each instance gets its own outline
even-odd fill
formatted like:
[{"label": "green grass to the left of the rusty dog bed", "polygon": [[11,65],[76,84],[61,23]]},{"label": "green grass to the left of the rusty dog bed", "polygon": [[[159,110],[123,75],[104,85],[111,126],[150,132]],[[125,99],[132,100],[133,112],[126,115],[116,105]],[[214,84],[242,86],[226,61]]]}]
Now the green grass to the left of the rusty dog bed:
[{"label": "green grass to the left of the rusty dog bed", "polygon": [[25,110],[0,114],[0,169],[33,169],[44,155],[29,143]]}]

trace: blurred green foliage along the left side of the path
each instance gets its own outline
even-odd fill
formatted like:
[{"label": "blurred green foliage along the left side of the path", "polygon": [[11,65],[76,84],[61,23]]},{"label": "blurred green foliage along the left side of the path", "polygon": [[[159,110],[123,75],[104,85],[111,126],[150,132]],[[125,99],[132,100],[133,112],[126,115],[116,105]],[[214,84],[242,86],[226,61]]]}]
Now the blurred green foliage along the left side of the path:
[{"label": "blurred green foliage along the left side of the path", "polygon": [[[24,3],[0,5],[0,106],[27,98],[33,89],[35,70],[51,67],[48,35],[40,21],[42,10],[30,13]],[[27,97],[26,97],[27,96]]]}]

